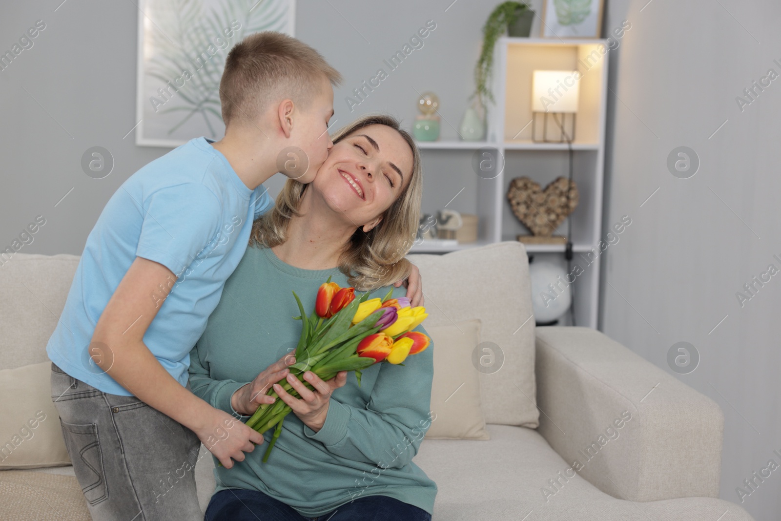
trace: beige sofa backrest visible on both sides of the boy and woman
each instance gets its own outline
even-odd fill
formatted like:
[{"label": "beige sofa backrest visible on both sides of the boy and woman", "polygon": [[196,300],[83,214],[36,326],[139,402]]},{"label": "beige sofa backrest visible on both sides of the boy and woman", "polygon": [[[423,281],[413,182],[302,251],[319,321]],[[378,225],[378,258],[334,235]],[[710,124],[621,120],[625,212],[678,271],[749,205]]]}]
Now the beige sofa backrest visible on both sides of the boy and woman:
[{"label": "beige sofa backrest visible on both sides of the boy and woman", "polygon": [[[0,266],[0,369],[48,359],[46,343],[79,259],[78,255],[17,253]],[[536,428],[534,319],[523,245],[508,241],[446,255],[408,255],[408,259],[423,275],[430,315],[424,327],[482,321],[481,344],[475,346],[473,361],[483,369],[480,391],[487,423]]]}]

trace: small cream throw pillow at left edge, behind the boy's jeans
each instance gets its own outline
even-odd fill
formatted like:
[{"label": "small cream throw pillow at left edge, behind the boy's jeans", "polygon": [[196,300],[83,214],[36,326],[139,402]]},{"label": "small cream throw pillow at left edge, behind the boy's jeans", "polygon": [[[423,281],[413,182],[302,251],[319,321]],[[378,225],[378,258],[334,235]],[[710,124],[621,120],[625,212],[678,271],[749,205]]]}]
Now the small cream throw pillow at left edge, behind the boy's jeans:
[{"label": "small cream throw pillow at left edge, behind the boy's jeans", "polygon": [[0,469],[70,465],[52,402],[52,362],[0,369]]}]

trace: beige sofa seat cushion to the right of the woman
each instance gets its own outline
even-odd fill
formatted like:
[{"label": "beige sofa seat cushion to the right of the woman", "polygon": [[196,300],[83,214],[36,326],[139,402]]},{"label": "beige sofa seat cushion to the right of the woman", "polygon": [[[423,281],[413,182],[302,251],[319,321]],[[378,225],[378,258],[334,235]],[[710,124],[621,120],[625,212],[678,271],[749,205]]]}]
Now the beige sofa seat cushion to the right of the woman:
[{"label": "beige sofa seat cushion to the right of the woman", "polygon": [[424,439],[420,444],[414,462],[437,484],[433,521],[751,521],[744,509],[714,498],[648,503],[613,498],[577,474],[567,477],[571,464],[536,430],[507,425],[487,429],[490,441]]}]

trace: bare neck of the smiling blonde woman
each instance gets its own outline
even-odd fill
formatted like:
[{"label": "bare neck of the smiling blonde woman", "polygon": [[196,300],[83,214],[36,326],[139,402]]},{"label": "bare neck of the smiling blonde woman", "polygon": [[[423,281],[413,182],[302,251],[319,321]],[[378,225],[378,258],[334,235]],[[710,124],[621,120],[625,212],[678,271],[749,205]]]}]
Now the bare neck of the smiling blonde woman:
[{"label": "bare neck of the smiling blonde woman", "polygon": [[301,269],[339,266],[339,257],[357,227],[324,219],[327,212],[318,212],[307,204],[302,204],[299,211],[301,216],[293,216],[287,225],[287,241],[271,248],[274,255]]}]

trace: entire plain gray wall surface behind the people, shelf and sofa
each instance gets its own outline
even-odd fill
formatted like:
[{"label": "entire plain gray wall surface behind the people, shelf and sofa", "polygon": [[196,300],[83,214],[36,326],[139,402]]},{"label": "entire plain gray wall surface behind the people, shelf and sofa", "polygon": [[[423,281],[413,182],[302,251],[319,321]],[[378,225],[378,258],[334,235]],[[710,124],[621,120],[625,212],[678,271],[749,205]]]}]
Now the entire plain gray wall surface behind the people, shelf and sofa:
[{"label": "entire plain gray wall surface behind the people, shelf and sofa", "polygon": [[[409,127],[415,90],[432,90],[442,100],[443,137],[455,137],[450,124],[458,126],[467,104],[480,26],[494,2],[451,1],[298,1],[298,37],[344,74],[335,93],[337,126],[383,111]],[[134,2],[68,0],[58,9],[60,2],[15,2],[0,17],[3,50],[36,20],[46,23],[33,48],[0,71],[0,245],[43,215],[45,226],[23,247],[28,253],[80,254],[119,184],[166,152],[135,146],[133,134],[123,139],[136,123]],[[679,378],[725,412],[722,498],[737,502],[735,487],[781,449],[781,282],[772,277],[742,309],[735,297],[769,263],[781,268],[772,259],[781,257],[774,204],[781,181],[772,149],[779,142],[781,83],[774,81],[744,112],[735,102],[769,68],[781,73],[772,62],[781,62],[781,9],[775,2],[646,2],[609,2],[606,16],[607,30],[625,19],[633,27],[611,52],[615,94],[608,96],[603,222],[607,227],[626,214],[633,224],[605,255],[601,329],[665,369],[672,344],[695,345],[700,365]],[[344,97],[426,20],[437,29],[425,46],[350,112]],[[108,148],[116,162],[101,180],[80,167],[81,155],[95,145]],[[701,159],[687,180],[665,166],[681,145]],[[474,180],[445,152],[426,154],[424,161],[437,158],[429,164],[441,170],[426,180],[423,209],[430,211],[451,197],[449,187]],[[270,184],[273,192],[278,187]],[[473,197],[459,196],[450,207],[473,212]],[[776,474],[743,503],[759,520],[781,511]]]}]

